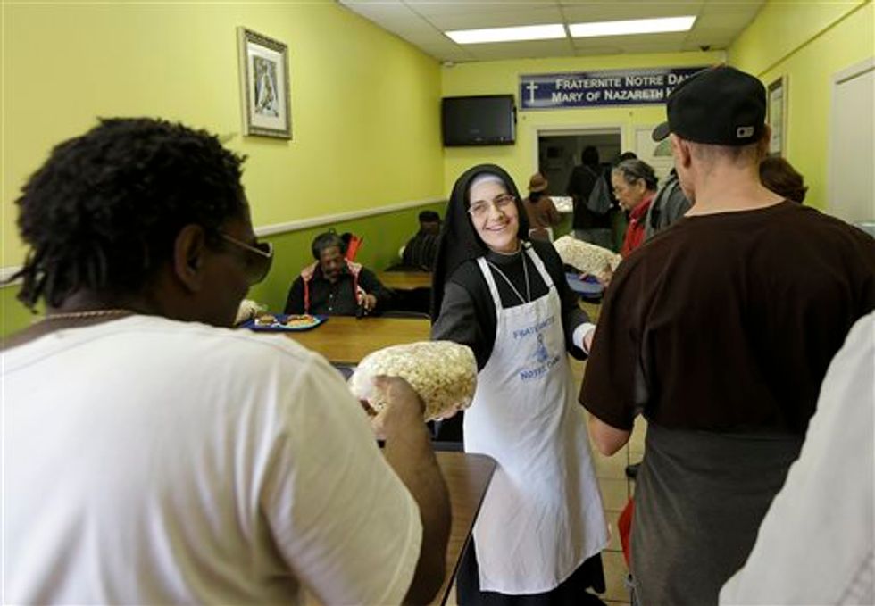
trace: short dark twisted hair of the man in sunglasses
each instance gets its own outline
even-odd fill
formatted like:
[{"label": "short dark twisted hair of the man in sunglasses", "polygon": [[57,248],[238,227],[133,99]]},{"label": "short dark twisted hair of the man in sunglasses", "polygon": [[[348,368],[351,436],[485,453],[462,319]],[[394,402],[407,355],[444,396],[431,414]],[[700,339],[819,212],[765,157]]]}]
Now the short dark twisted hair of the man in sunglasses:
[{"label": "short dark twisted hair of the man in sunglasses", "polygon": [[79,289],[137,292],[171,259],[179,230],[211,244],[246,216],[244,156],[204,130],[148,118],[112,118],[54,147],[15,201],[29,245],[18,298],[57,307]]}]

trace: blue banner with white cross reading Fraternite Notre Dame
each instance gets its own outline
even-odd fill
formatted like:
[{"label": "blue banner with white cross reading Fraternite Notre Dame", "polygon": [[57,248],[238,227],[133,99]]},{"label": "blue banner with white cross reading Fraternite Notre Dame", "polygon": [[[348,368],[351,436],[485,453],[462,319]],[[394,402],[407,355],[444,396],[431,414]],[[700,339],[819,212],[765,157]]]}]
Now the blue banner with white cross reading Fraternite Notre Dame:
[{"label": "blue banner with white cross reading Fraternite Notre Dame", "polygon": [[671,89],[702,67],[582,71],[520,77],[523,110],[664,104]]}]

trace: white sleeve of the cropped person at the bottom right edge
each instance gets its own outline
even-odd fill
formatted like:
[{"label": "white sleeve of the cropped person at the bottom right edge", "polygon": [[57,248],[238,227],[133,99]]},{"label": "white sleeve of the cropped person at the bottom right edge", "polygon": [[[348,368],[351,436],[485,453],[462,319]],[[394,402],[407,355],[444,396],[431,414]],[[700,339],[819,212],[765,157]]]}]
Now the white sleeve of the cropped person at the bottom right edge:
[{"label": "white sleeve of the cropped person at the bottom right edge", "polygon": [[721,604],[875,600],[875,313],[829,364],[799,458]]}]

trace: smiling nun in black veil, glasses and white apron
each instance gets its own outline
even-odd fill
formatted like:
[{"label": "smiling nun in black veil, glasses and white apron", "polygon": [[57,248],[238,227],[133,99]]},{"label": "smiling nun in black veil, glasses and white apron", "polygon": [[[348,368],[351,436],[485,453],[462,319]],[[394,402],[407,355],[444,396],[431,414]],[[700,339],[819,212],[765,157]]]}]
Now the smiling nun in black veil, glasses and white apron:
[{"label": "smiling nun in black veil, glasses and white apron", "polygon": [[433,278],[432,338],[473,349],[465,452],[498,463],[456,577],[463,606],[602,603],[586,589],[604,591],[608,532],[567,355],[585,357],[594,327],[553,245],[528,234],[504,170],[484,164],[456,181]]}]

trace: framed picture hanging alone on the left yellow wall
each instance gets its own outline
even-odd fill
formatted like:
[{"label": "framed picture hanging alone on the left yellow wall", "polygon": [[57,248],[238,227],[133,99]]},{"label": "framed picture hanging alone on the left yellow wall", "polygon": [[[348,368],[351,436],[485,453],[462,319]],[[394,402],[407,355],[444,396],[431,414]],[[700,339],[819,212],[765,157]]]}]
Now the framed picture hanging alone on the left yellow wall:
[{"label": "framed picture hanging alone on the left yellow wall", "polygon": [[243,134],[292,138],[287,46],[239,27],[237,47]]}]

